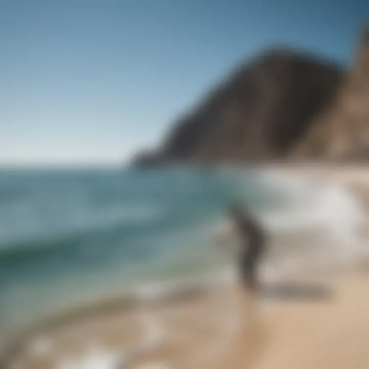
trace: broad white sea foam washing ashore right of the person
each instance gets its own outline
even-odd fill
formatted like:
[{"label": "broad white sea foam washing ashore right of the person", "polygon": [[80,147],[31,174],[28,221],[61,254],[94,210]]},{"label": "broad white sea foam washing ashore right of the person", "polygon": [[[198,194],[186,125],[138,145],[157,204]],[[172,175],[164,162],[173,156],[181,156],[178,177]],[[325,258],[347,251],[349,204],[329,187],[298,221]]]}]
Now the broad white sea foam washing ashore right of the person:
[{"label": "broad white sea foam washing ashore right of the person", "polygon": [[[270,235],[267,260],[261,265],[265,279],[334,263],[348,265],[369,254],[361,233],[366,213],[353,192],[339,183],[278,171],[264,172],[261,178],[283,198],[282,206],[259,213]],[[228,220],[217,227],[218,235],[231,232]]]}]

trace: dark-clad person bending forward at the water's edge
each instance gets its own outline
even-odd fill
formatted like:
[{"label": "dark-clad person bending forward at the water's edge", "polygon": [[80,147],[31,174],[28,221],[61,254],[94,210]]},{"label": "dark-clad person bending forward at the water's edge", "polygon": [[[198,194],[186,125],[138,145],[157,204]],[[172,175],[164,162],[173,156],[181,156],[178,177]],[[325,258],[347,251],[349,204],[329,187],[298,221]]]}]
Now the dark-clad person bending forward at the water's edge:
[{"label": "dark-clad person bending forward at the water's edge", "polygon": [[242,283],[251,289],[258,287],[257,267],[265,248],[265,233],[259,222],[239,205],[229,210],[240,238],[239,273]]}]

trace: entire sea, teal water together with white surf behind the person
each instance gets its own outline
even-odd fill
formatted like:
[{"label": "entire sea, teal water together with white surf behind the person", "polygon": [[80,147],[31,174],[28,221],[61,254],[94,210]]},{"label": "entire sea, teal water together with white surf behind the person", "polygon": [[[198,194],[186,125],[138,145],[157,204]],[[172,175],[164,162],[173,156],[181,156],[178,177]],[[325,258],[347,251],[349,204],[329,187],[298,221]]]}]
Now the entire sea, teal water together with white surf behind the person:
[{"label": "entire sea, teal water together with white surf behind the person", "polygon": [[234,202],[269,234],[265,276],[362,251],[363,212],[350,192],[277,170],[1,170],[1,335],[80,304],[226,270],[232,257],[215,235]]}]

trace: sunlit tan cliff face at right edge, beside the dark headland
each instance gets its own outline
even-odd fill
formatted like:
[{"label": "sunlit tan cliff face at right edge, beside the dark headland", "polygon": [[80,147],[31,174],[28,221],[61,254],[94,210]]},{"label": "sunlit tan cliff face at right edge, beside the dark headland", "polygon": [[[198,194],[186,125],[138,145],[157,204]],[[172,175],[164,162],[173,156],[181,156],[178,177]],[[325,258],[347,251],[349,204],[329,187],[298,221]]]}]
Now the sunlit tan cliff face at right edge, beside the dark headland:
[{"label": "sunlit tan cliff face at right edge, beside the dark headland", "polygon": [[369,28],[333,104],[312,122],[296,154],[329,159],[369,158]]}]

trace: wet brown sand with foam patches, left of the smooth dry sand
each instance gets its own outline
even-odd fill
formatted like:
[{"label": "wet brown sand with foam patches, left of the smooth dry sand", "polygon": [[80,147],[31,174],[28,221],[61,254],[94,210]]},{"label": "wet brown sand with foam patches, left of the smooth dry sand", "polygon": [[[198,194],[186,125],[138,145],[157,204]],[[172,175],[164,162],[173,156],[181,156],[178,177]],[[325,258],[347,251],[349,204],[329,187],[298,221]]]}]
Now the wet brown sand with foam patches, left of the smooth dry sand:
[{"label": "wet brown sand with foam patches, left of the smooth dry sand", "polygon": [[[144,368],[150,363],[220,368],[223,364],[215,365],[214,357],[226,354],[229,347],[239,353],[241,365],[245,357],[251,358],[254,348],[247,343],[249,354],[245,356],[244,349],[236,345],[254,341],[260,332],[255,327],[250,334],[250,323],[256,321],[254,300],[233,283],[199,292],[161,302],[146,301],[136,308],[107,312],[102,307],[88,318],[46,325],[18,345],[8,365],[27,369],[85,368],[89,359],[95,357],[96,363],[105,356],[111,364],[101,369]],[[244,319],[245,311],[249,312],[248,319]]]}]

